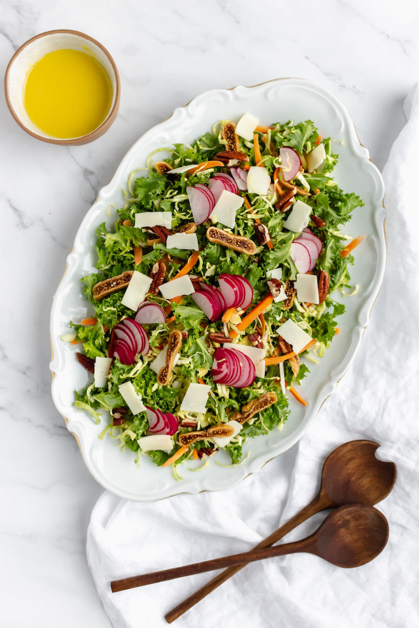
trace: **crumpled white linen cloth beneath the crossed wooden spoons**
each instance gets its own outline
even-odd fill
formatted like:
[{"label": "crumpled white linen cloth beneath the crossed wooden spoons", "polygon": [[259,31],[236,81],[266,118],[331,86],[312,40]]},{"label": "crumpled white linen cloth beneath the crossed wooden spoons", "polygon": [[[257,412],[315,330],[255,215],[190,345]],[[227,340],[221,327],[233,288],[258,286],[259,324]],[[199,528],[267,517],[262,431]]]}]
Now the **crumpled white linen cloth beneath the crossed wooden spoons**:
[{"label": "crumpled white linen cloth beneath the crossed wooden spoons", "polygon": [[[417,90],[405,106],[408,123],[383,173],[386,274],[352,367],[298,446],[233,489],[150,504],[102,495],[92,512],[87,558],[114,628],[167,625],[165,613],[215,573],[121,593],[111,593],[110,580],[250,549],[312,499],[324,458],[356,438],[378,441],[378,457],[397,465],[395,489],[378,505],[390,528],[383,553],[352,570],[304,554],[253,563],[175,625],[419,626]],[[313,517],[285,541],[312,532],[324,516]]]}]

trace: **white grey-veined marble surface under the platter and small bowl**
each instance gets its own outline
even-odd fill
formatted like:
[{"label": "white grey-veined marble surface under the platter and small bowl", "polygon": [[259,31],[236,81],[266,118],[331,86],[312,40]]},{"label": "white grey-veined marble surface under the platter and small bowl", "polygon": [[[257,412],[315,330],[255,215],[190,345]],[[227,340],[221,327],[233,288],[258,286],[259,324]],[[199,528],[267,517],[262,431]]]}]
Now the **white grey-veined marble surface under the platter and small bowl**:
[{"label": "white grey-veined marble surface under the platter and small bowl", "polygon": [[[87,522],[102,489],[53,407],[48,370],[52,296],[80,220],[133,141],[212,87],[315,80],[346,104],[382,168],[419,77],[419,5],[3,0],[1,14],[3,73],[23,41],[72,28],[101,41],[121,75],[117,121],[87,146],[36,141],[0,103],[0,624],[107,628],[85,560]],[[285,474],[293,455],[278,467]]]}]

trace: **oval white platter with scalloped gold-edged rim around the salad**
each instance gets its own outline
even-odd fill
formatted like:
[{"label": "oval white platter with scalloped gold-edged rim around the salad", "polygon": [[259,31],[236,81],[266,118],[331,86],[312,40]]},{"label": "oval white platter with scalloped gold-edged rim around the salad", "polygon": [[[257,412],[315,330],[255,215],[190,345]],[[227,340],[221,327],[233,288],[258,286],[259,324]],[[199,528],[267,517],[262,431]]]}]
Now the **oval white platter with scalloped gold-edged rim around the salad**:
[{"label": "oval white platter with scalloped gold-edged rim around the salad", "polygon": [[[291,414],[283,430],[273,430],[266,436],[249,440],[244,447],[244,457],[248,452],[249,455],[241,465],[221,466],[220,463],[229,463],[229,456],[219,452],[199,472],[192,470],[199,467],[201,463],[198,461],[179,465],[177,470],[183,479],[175,480],[170,467],[156,467],[145,456],[140,458],[138,467],[133,452],[122,452],[109,437],[100,440],[98,435],[107,424],[109,414],[104,413],[101,425],[95,425],[88,413],[73,408],[73,391],[84,387],[88,376],[75,359],[77,345],[64,342],[60,335],[68,330],[69,320],[77,322],[91,313],[81,294],[80,278],[94,271],[95,229],[101,222],[106,221],[108,225],[115,222],[115,214],[111,212],[109,217],[107,208],[111,203],[114,207],[123,207],[122,189],[127,188],[130,173],[143,167],[152,151],[173,143],[191,142],[209,131],[219,119],[237,121],[247,111],[258,116],[261,124],[267,125],[289,119],[310,119],[322,137],[342,140],[334,144],[334,152],[339,153],[334,179],[346,192],[356,192],[365,202],[364,207],[354,211],[351,222],[344,227],[352,237],[367,236],[356,249],[356,264],[350,269],[352,283],[359,288],[356,295],[344,300],[346,313],[339,319],[340,333],[325,351],[320,364],[309,364],[310,374],[300,386],[308,406],[303,407],[290,396]],[[80,225],[51,311],[53,401],[65,418],[68,430],[77,438],[87,468],[99,484],[121,497],[138,501],[152,501],[184,492],[227,489],[301,438],[349,367],[369,321],[386,258],[383,196],[381,175],[369,160],[367,149],[359,143],[345,107],[324,88],[300,78],[281,78],[256,87],[205,92],[187,106],[175,109],[169,119],[136,141]],[[342,300],[337,293],[334,298]]]}]

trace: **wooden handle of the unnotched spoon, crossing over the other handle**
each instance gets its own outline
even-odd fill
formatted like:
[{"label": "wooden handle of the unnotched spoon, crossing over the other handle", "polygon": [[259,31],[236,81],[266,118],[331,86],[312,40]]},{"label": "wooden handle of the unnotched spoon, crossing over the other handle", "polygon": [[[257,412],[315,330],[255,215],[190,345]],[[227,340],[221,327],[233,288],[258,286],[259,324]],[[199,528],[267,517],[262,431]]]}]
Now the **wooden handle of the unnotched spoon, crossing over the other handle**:
[{"label": "wooden handle of the unnotched spoon, crossing over the other handle", "polygon": [[117,591],[125,591],[129,588],[144,587],[144,585],[153,585],[156,582],[165,582],[165,580],[173,580],[174,578],[183,578],[192,576],[195,573],[203,573],[204,571],[214,571],[223,567],[231,567],[234,565],[242,565],[244,561],[247,563],[255,560],[264,560],[265,558],[273,558],[273,556],[283,556],[285,554],[295,554],[299,551],[307,551],[310,539],[295,541],[294,543],[285,543],[284,545],[276,545],[271,548],[251,549],[248,552],[234,554],[232,556],[222,556],[222,558],[212,558],[204,560],[200,563],[192,565],[183,565],[182,567],[173,567],[163,571],[153,571],[153,573],[144,573],[141,576],[133,576],[131,578],[123,578],[122,580],[114,580],[111,582],[113,593]]}]

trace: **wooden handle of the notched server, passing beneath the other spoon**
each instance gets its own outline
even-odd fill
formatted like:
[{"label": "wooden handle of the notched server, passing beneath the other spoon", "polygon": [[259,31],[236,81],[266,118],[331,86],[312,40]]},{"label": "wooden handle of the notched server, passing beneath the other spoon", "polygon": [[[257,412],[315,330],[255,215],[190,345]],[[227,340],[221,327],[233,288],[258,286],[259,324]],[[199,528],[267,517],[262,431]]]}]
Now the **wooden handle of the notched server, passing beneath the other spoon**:
[{"label": "wooden handle of the notched server, passing beneath the other spoon", "polygon": [[[324,495],[316,495],[316,497],[310,504],[308,504],[308,506],[303,508],[302,511],[298,512],[294,517],[292,517],[292,519],[290,519],[290,521],[281,526],[281,528],[278,528],[277,530],[275,530],[275,532],[269,534],[269,536],[267,536],[266,539],[263,539],[263,541],[256,545],[254,549],[266,548],[270,545],[273,545],[281,538],[283,538],[283,536],[291,532],[291,530],[297,528],[297,526],[299,526],[303,521],[306,521],[306,519],[312,517],[313,514],[316,514],[316,512],[320,512],[325,508],[330,507],[331,505],[332,504],[330,504],[329,499],[327,499]],[[210,582],[207,582],[204,587],[201,587],[200,589],[195,591],[195,593],[192,593],[192,595],[183,600],[183,602],[180,602],[180,604],[175,606],[174,609],[171,609],[165,615],[166,622],[168,622],[168,624],[174,622],[175,619],[178,619],[178,617],[180,617],[180,615],[183,615],[183,613],[187,612],[187,610],[192,609],[195,604],[200,602],[200,600],[203,600],[204,597],[206,597],[207,595],[209,595],[209,593],[222,585],[223,582],[229,580],[229,578],[234,576],[235,573],[240,571],[247,564],[248,561],[246,561],[246,563],[242,563],[241,565],[229,567],[219,573],[217,576],[215,576],[215,578],[212,578],[212,580],[210,580]]]}]

